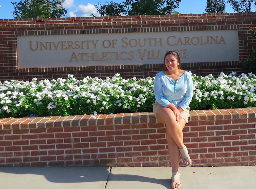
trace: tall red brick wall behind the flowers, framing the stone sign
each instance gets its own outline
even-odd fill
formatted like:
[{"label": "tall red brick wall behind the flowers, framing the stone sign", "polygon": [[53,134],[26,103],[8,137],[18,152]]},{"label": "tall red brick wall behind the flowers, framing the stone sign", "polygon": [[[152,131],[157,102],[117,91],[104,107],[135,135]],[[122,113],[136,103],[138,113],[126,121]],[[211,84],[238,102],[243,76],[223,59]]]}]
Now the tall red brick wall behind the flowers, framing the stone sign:
[{"label": "tall red brick wall behind the flowers, framing the stone sign", "polygon": [[[67,78],[68,74],[74,74],[77,79],[86,76],[104,79],[115,73],[124,78],[146,78],[162,71],[162,64],[18,69],[17,36],[238,29],[239,56],[244,56],[255,48],[256,40],[251,38],[248,29],[254,26],[255,20],[256,13],[0,19],[0,80],[56,79]],[[198,76],[249,72],[240,68],[237,61],[189,62],[182,66]]]}]

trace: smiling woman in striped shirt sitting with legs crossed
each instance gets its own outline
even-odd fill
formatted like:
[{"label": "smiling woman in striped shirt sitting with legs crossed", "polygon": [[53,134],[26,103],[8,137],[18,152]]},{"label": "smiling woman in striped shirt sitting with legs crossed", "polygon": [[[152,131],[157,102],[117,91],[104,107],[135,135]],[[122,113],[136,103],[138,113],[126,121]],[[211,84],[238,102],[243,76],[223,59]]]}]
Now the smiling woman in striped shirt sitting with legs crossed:
[{"label": "smiling woman in striped shirt sitting with legs crossed", "polygon": [[168,153],[172,167],[171,187],[180,188],[179,164],[182,155],[183,164],[190,167],[192,161],[183,143],[182,130],[188,122],[189,103],[193,96],[191,74],[181,70],[181,61],[177,52],[169,51],[165,55],[167,70],[155,76],[155,103],[153,112],[158,122],[166,125]]}]

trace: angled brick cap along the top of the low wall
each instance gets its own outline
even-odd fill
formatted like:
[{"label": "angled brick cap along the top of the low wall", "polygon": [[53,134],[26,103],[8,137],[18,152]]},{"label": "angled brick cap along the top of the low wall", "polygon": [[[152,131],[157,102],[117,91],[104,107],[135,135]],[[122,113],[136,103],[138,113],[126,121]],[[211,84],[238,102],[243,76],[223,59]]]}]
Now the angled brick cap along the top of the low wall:
[{"label": "angled brick cap along the top of the low wall", "polygon": [[[190,121],[247,119],[256,117],[256,107],[193,110]],[[53,117],[9,117],[0,119],[0,129],[40,129],[82,126],[105,126],[126,124],[157,123],[153,112],[98,114],[84,116],[53,116]]]}]

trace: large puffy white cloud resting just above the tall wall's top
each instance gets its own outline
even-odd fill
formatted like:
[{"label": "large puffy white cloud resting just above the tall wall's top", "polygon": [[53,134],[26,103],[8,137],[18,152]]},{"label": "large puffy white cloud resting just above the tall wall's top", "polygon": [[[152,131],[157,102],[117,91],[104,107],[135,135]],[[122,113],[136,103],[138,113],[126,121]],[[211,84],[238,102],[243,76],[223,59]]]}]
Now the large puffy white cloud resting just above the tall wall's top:
[{"label": "large puffy white cloud resting just above the tall wall's top", "polygon": [[88,3],[86,6],[79,5],[74,12],[69,12],[70,17],[90,17],[91,14],[96,17],[100,16],[96,7],[90,3]]}]

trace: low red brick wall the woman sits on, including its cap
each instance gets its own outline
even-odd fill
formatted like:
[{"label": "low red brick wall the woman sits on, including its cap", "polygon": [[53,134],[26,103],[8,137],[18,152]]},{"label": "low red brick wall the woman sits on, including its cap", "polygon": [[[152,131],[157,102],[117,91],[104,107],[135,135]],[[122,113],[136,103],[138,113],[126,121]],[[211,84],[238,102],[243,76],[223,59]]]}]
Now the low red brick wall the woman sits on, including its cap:
[{"label": "low red brick wall the woman sits on, including its cap", "polygon": [[[256,165],[256,108],[190,111],[193,166]],[[0,119],[0,166],[169,166],[153,113]]]}]

